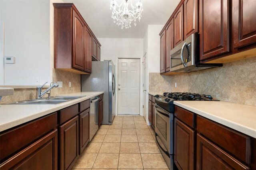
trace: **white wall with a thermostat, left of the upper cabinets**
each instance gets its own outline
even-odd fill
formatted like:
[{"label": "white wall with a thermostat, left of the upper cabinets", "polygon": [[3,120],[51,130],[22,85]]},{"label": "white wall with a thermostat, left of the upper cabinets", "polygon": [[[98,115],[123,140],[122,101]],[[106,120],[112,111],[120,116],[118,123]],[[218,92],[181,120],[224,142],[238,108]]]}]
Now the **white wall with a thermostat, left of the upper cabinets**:
[{"label": "white wall with a thermostat, left of the upper cabinets", "polygon": [[49,0],[0,0],[0,22],[4,23],[3,55],[15,57],[15,64],[4,64],[0,84],[50,82]]}]

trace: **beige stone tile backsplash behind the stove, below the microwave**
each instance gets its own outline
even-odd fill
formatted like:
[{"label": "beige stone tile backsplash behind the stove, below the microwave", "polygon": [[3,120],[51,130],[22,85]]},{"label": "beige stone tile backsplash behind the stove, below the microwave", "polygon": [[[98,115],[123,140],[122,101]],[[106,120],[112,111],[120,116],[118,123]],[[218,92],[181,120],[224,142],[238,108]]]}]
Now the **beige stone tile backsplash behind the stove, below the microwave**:
[{"label": "beige stone tile backsplash behind the stove, below the microwave", "polygon": [[210,94],[218,100],[256,106],[256,57],[198,72],[149,73],[149,92],[165,91]]}]

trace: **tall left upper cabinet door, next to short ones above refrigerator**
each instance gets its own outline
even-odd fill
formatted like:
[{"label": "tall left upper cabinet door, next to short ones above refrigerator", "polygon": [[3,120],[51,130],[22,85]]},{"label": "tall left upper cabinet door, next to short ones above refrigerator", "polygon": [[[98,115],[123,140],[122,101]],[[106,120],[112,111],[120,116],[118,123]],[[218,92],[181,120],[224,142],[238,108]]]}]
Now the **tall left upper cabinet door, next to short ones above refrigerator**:
[{"label": "tall left upper cabinet door, next to short ones above refrigerator", "polygon": [[92,34],[84,26],[84,71],[92,72]]}]

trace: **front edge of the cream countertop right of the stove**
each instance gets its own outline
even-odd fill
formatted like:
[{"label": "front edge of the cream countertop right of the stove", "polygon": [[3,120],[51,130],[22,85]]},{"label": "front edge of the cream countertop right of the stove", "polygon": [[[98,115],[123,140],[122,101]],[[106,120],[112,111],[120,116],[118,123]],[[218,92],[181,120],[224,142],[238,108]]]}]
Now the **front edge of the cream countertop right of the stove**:
[{"label": "front edge of the cream countertop right of the stove", "polygon": [[244,125],[241,125],[241,124],[229,121],[228,119],[225,119],[225,118],[222,118],[222,117],[218,117],[216,115],[204,112],[204,111],[196,109],[194,107],[187,106],[186,104],[181,104],[178,101],[174,101],[174,105],[180,106],[180,107],[182,107],[184,109],[187,109],[189,111],[192,111],[192,112],[194,112],[194,113],[196,113],[198,115],[206,117],[206,118],[208,118],[208,119],[210,119],[212,121],[220,123],[220,124],[222,124],[222,125],[224,125],[226,127],[229,127],[229,128],[234,129],[236,131],[244,133],[244,134],[246,134],[246,135],[248,135],[250,137],[256,138],[256,129],[252,129],[250,127],[246,127]]}]

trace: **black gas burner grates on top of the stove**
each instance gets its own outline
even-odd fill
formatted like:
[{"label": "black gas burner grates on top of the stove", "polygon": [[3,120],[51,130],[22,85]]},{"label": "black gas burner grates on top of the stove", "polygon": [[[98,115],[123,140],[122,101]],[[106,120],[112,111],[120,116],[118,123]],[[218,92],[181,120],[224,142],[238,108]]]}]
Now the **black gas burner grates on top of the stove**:
[{"label": "black gas burner grates on top of the stove", "polygon": [[202,100],[206,100],[206,101],[210,101],[212,100],[212,96],[210,95],[206,95],[206,94],[197,94],[197,93],[180,93],[180,92],[173,92],[173,93],[168,93],[168,92],[164,92],[163,94],[164,96],[168,97],[168,98],[172,98],[174,100],[198,100],[198,101],[202,101]]}]

